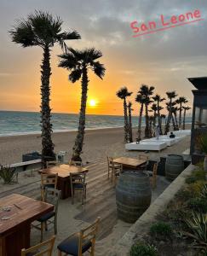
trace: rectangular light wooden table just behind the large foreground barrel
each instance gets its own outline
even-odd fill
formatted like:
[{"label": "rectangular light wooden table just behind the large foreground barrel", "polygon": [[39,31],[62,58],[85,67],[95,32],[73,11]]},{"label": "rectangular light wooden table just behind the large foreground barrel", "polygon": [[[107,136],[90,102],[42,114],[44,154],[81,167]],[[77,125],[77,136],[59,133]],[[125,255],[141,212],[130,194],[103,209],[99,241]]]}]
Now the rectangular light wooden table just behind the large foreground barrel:
[{"label": "rectangular light wooden table just behind the large foreground barrel", "polygon": [[147,160],[139,160],[129,157],[119,157],[112,161],[114,164],[123,165],[123,169],[138,169],[139,166],[142,166],[147,163]]}]

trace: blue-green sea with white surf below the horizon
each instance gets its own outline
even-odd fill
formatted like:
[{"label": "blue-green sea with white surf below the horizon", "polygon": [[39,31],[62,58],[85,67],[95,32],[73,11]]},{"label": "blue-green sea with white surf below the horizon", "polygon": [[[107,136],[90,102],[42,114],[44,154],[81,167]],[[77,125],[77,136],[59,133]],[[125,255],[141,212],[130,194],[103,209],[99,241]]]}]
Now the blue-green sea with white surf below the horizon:
[{"label": "blue-green sea with white surf below the horizon", "polygon": [[[187,123],[191,123],[192,117],[187,117]],[[144,125],[145,119],[142,119]],[[78,114],[52,113],[51,123],[53,131],[77,131]],[[133,126],[138,125],[138,117],[132,117]],[[115,115],[86,115],[86,130],[104,128],[116,128],[124,126],[124,117]],[[20,111],[0,111],[0,137],[17,136],[26,134],[40,134],[40,113]]]}]

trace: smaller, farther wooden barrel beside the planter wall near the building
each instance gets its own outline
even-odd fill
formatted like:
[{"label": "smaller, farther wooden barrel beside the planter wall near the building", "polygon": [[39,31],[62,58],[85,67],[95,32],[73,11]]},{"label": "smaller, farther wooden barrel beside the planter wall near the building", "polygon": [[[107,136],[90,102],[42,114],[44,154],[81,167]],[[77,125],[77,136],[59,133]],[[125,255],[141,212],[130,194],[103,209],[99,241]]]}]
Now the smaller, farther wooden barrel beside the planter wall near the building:
[{"label": "smaller, farther wooden barrel beside the planter wall near the building", "polygon": [[184,160],[181,155],[169,154],[165,163],[165,176],[174,180],[184,170]]}]

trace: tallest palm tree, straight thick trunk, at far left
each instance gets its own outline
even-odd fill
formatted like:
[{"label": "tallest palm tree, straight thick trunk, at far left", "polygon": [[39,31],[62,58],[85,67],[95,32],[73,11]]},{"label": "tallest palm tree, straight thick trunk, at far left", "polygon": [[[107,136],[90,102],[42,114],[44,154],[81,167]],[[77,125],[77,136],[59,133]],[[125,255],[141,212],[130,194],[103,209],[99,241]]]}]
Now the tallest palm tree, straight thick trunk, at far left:
[{"label": "tallest palm tree, straight thick trunk, at far left", "polygon": [[38,46],[43,49],[43,61],[41,65],[41,126],[42,126],[42,158],[45,160],[55,159],[54,143],[52,142],[52,124],[50,123],[50,51],[55,43],[60,44],[61,49],[66,50],[66,40],[80,39],[76,31],[62,32],[62,20],[53,17],[47,12],[35,11],[28,15],[27,20],[17,21],[13,30],[9,33],[15,44],[22,47]]}]

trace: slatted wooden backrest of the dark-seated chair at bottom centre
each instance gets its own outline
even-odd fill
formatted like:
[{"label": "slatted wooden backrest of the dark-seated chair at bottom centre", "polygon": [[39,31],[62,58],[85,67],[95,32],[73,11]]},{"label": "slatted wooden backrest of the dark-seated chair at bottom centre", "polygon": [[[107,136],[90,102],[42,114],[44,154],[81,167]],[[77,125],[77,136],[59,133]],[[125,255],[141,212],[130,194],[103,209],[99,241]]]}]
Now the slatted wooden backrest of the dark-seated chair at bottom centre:
[{"label": "slatted wooden backrest of the dark-seated chair at bottom centre", "polygon": [[100,217],[96,218],[93,224],[90,224],[88,227],[80,231],[81,236],[80,236],[79,246],[78,246],[78,255],[82,255],[82,247],[83,247],[84,241],[89,240],[95,246],[95,238],[96,238],[96,234],[100,224],[100,219],[101,219]]}]

